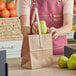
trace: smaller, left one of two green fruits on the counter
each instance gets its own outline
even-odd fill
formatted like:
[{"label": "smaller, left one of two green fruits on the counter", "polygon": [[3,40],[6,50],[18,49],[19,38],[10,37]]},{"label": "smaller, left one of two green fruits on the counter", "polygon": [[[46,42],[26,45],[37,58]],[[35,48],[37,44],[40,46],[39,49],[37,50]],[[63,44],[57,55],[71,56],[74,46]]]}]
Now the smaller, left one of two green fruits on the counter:
[{"label": "smaller, left one of two green fruits on the counter", "polygon": [[60,68],[66,68],[67,67],[67,61],[68,58],[66,56],[60,56],[58,59],[58,65]]}]

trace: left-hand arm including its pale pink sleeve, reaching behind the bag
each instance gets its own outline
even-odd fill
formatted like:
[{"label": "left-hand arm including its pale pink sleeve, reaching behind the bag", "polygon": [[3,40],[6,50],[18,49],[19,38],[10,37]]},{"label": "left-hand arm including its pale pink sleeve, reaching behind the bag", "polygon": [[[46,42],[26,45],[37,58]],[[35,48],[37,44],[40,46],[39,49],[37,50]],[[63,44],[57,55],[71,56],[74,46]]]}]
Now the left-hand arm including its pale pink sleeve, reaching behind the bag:
[{"label": "left-hand arm including its pale pink sleeve, reaching behind the bag", "polygon": [[[23,36],[30,33],[30,6],[27,0],[19,0],[20,2],[20,22],[21,32]],[[30,1],[30,0],[29,0]]]}]

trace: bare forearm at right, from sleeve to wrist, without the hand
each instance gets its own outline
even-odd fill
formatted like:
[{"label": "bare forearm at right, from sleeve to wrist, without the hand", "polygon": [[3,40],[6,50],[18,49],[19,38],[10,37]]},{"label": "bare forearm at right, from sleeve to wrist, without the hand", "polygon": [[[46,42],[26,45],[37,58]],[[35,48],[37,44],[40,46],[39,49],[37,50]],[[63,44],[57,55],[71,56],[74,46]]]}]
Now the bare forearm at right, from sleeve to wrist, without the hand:
[{"label": "bare forearm at right, from sleeve to wrist, without the hand", "polygon": [[59,36],[66,35],[71,32],[73,23],[73,15],[64,14],[63,26],[57,29]]}]

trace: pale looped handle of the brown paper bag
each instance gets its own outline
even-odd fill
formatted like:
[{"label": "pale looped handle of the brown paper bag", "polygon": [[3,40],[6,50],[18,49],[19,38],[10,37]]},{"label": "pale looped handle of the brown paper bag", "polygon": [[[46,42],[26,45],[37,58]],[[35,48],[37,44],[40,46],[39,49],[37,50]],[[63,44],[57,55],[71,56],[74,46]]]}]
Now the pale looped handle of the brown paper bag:
[{"label": "pale looped handle of the brown paper bag", "polygon": [[40,48],[42,48],[43,47],[43,44],[42,44],[42,35],[41,35],[41,27],[40,27],[40,21],[39,21],[39,16],[38,16],[38,10],[37,10],[37,8],[35,8],[35,10],[33,12],[32,24],[34,23],[35,16],[36,16],[36,19],[37,19],[37,22],[38,22]]}]

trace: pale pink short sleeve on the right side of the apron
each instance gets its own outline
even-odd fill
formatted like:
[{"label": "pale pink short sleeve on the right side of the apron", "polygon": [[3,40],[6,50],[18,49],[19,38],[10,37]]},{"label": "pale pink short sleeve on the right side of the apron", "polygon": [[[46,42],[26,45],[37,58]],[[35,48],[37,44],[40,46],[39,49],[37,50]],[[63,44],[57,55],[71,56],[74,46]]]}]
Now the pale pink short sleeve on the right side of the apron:
[{"label": "pale pink short sleeve on the right side of the apron", "polygon": [[63,0],[63,14],[73,14],[74,0]]}]

